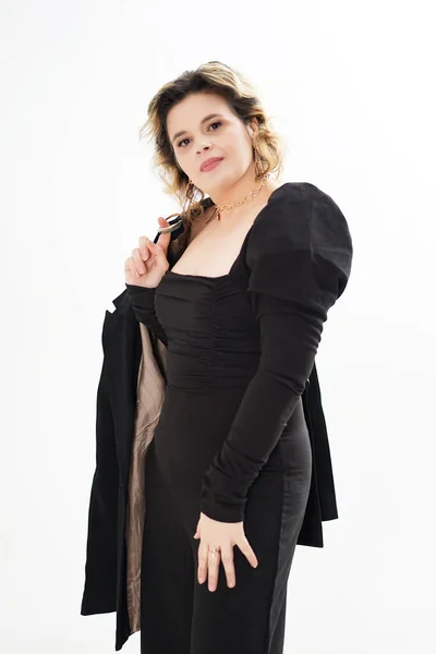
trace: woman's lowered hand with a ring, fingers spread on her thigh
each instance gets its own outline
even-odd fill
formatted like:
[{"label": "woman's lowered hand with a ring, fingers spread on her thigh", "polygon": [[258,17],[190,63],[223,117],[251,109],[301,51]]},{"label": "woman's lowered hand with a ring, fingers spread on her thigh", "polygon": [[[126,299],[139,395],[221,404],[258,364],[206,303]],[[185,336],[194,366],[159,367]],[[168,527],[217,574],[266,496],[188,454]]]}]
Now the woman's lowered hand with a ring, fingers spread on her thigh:
[{"label": "woman's lowered hand with a ring, fingers spread on her thigh", "polygon": [[[253,568],[257,568],[258,561],[246,540],[243,522],[219,522],[205,513],[201,513],[194,538],[201,538],[198,545],[198,582],[203,583],[208,577],[209,591],[215,591],[217,588],[220,560],[225,567],[227,585],[230,589],[235,585],[233,545],[238,545]],[[218,550],[215,555],[210,552],[214,547]]]}]

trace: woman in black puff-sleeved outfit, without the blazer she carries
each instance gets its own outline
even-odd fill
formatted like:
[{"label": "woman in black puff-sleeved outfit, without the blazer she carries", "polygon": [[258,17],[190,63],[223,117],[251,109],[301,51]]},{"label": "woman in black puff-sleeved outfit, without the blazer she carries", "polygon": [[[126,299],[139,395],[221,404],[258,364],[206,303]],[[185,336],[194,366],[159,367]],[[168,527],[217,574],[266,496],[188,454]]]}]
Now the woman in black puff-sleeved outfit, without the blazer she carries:
[{"label": "woman in black puff-sleeved outfit, without the blazer she carries", "polygon": [[166,84],[148,117],[156,164],[189,206],[171,269],[164,218],[124,266],[136,318],[168,348],[145,475],[142,652],[279,654],[311,485],[301,395],[351,238],[327,194],[272,181],[279,140],[228,66]]}]

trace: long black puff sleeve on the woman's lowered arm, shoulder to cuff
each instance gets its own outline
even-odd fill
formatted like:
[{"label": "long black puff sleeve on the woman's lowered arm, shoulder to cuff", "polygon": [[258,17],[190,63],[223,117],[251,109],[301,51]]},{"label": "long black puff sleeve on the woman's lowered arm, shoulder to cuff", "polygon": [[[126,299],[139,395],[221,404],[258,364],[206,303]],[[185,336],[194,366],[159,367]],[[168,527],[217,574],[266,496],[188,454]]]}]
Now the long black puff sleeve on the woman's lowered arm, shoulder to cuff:
[{"label": "long black puff sleeve on the woman's lowered arm, shoulder to cuff", "polygon": [[261,359],[203,479],[201,511],[214,520],[243,521],[247,491],[304,391],[327,312],[350,276],[346,218],[327,194],[307,187],[267,205],[249,235],[245,262]]}]

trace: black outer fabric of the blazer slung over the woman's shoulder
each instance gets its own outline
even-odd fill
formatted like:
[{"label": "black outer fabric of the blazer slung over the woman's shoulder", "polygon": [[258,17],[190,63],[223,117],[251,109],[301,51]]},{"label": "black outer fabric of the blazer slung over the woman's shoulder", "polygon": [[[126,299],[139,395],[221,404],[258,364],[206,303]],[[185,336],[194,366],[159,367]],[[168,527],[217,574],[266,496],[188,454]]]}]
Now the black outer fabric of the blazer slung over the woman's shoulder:
[{"label": "black outer fabric of the blazer slung over the woman's shoulder", "polygon": [[[210,198],[204,201],[206,206],[209,203]],[[183,237],[180,219],[169,222],[179,225],[171,233],[171,241]],[[181,252],[174,254],[168,250],[171,266],[180,255]],[[117,611],[116,650],[119,651],[132,633],[126,606],[124,534],[142,341],[126,289],[112,302],[116,310],[106,311],[101,335],[104,360],[97,388],[96,469],[90,489],[81,615]],[[302,400],[312,446],[312,482],[298,544],[324,547],[322,522],[337,519],[338,509],[315,364]]]}]

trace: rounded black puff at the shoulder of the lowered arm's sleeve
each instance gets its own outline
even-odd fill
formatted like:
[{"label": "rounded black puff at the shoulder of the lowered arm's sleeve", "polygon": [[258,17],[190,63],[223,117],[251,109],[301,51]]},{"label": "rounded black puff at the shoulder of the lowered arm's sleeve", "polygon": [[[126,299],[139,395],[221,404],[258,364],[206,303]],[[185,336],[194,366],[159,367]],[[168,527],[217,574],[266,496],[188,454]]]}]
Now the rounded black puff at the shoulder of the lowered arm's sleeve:
[{"label": "rounded black puff at the shoulder of the lowered arm's sleeve", "polygon": [[343,291],[353,246],[346,217],[330,195],[310,182],[276,189],[253,223],[245,251],[252,278],[267,283],[331,278]]}]

